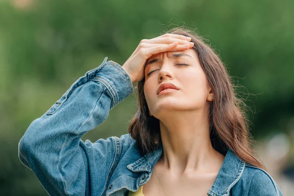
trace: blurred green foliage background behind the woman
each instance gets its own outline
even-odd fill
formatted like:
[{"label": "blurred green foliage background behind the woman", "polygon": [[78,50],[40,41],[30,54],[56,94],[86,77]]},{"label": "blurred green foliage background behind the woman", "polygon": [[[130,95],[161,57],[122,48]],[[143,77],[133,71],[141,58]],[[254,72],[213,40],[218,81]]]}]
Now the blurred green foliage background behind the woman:
[{"label": "blurred green foliage background behind the woman", "polygon": [[[254,138],[288,138],[291,168],[293,10],[293,0],[0,0],[0,196],[47,195],[20,162],[18,143],[77,78],[105,56],[123,65],[142,39],[182,25],[210,40],[235,84],[244,86],[238,91],[251,109]],[[127,133],[135,111],[132,95],[82,139]]]}]

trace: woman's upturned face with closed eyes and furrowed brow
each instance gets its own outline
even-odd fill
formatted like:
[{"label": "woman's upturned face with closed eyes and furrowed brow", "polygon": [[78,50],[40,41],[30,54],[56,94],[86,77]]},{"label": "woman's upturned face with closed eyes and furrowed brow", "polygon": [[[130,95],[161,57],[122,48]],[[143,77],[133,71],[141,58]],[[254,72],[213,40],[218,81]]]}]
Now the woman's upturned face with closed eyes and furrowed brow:
[{"label": "woman's upturned face with closed eyes and furrowed brow", "polygon": [[[157,95],[158,87],[166,82],[178,90]],[[144,94],[150,113],[157,119],[167,112],[203,109],[210,90],[193,49],[162,52],[147,60]]]}]

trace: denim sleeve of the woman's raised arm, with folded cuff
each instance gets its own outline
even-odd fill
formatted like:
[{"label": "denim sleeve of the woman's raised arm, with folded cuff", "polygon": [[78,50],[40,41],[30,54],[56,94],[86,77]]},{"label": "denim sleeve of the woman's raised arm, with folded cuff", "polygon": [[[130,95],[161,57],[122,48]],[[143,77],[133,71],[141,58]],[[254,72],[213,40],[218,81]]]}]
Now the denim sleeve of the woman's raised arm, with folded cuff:
[{"label": "denim sleeve of the woman's raised arm, with folded cuff", "polygon": [[100,195],[107,189],[120,153],[118,141],[110,137],[84,143],[81,137],[105,121],[109,110],[133,92],[133,85],[120,65],[106,60],[78,78],[19,142],[21,162],[49,195]]}]

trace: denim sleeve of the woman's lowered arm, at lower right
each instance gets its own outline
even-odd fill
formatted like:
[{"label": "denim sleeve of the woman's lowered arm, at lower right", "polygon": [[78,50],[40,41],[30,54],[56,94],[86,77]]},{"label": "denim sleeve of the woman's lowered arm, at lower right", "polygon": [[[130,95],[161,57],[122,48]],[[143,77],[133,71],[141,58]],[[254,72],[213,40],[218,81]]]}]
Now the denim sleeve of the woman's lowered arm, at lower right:
[{"label": "denim sleeve of the woman's lowered arm, at lower right", "polygon": [[257,170],[252,177],[248,196],[283,196],[270,174]]}]

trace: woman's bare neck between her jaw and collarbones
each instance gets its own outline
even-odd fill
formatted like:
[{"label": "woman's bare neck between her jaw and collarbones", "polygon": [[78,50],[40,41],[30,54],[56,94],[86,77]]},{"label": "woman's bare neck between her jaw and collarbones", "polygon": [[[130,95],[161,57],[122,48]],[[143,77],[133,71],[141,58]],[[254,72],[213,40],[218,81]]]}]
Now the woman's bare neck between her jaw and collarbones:
[{"label": "woman's bare neck between her jaw and collarbones", "polygon": [[[170,112],[160,119],[164,154],[159,160],[174,175],[212,172],[223,156],[211,145],[208,114],[199,111]],[[218,172],[219,168],[216,168]]]}]

